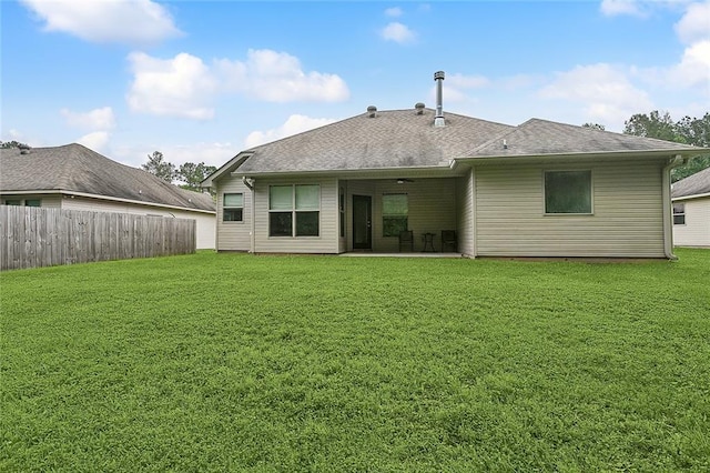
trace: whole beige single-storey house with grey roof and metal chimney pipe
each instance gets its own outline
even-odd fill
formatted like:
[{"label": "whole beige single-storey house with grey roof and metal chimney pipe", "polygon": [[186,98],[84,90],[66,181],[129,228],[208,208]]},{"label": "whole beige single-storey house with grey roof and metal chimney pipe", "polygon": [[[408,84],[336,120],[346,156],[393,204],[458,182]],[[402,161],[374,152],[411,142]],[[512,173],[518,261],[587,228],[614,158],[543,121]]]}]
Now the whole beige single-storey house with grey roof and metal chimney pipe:
[{"label": "whole beige single-storey house with grey roof and metal chimney pipe", "polygon": [[217,250],[396,252],[410,230],[440,251],[454,230],[470,258],[673,258],[669,172],[707,150],[445,113],[435,80],[436,109],[369,107],[217,169]]}]

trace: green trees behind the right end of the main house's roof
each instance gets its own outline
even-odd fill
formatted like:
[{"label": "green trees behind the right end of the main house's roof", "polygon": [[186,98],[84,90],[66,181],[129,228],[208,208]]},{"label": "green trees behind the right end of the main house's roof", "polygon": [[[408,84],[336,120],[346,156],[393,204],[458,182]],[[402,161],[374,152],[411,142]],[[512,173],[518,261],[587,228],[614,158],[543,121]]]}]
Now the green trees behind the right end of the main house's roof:
[{"label": "green trees behind the right end of the main house's roof", "polygon": [[[676,123],[668,112],[661,114],[658,110],[653,110],[648,115],[645,113],[632,115],[625,125],[626,134],[703,148],[710,145],[710,112],[706,112],[701,119],[686,115]],[[710,154],[693,158],[687,164],[673,169],[671,180],[679,181],[706,168],[710,168]]]}]

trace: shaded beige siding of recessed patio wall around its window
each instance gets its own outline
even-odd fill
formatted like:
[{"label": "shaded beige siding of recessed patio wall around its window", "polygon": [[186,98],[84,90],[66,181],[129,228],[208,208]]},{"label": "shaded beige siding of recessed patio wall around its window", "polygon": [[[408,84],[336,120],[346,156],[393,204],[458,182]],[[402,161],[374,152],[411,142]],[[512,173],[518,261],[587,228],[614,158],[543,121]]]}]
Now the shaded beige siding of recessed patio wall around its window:
[{"label": "shaded beige siding of recessed patio wall around its window", "polygon": [[407,194],[414,250],[424,249],[423,233],[434,233],[434,248],[442,251],[442,230],[456,230],[456,179],[415,179],[404,184],[387,179],[373,183],[373,251],[399,251],[397,236],[383,236],[382,197],[385,193]]}]

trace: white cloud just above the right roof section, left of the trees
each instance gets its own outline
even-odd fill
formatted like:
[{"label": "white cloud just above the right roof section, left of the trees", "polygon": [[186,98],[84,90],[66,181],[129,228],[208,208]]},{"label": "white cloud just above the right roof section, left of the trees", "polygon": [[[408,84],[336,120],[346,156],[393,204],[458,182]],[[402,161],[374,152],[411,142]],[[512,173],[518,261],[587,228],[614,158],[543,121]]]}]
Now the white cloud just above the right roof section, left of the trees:
[{"label": "white cloud just above the right roof section, left of the trees", "polygon": [[538,95],[548,100],[564,100],[579,107],[590,121],[605,123],[608,129],[653,104],[643,90],[636,88],[628,71],[610,64],[578,66],[560,72]]}]

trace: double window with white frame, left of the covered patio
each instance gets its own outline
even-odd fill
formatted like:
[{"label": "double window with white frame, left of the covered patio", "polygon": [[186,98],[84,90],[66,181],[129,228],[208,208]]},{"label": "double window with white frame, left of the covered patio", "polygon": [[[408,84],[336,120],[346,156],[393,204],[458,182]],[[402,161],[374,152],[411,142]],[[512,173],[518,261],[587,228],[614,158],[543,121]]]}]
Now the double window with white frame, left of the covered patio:
[{"label": "double window with white frame, left of the covered patio", "polygon": [[270,236],[318,236],[321,187],[318,184],[268,188]]}]

